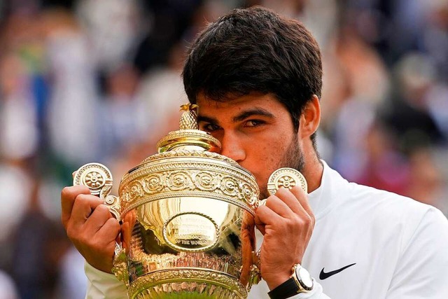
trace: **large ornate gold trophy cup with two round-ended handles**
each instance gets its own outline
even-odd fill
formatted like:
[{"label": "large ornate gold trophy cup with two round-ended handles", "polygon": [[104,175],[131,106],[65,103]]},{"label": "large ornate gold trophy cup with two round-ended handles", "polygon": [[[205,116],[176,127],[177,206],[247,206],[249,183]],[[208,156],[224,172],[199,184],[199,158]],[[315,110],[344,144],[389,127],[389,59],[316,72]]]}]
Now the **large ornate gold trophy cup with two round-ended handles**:
[{"label": "large ornate gold trophy cup with two round-ended handles", "polygon": [[[255,209],[263,202],[254,176],[216,153],[220,142],[198,130],[196,105],[186,104],[180,130],[123,176],[119,197],[99,163],[80,167],[73,185],[104,199],[120,220],[113,272],[129,298],[247,298],[260,280]],[[282,168],[268,190],[300,185],[302,174]]]}]

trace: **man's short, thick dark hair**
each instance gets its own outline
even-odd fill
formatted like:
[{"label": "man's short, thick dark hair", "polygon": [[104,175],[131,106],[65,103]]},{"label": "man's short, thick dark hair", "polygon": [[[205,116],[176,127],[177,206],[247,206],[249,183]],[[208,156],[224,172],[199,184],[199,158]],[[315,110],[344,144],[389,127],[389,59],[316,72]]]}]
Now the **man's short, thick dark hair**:
[{"label": "man's short, thick dark hair", "polygon": [[321,96],[321,51],[297,20],[261,7],[235,9],[197,36],[183,84],[191,103],[199,93],[215,101],[271,93],[286,106],[297,130],[305,104]]}]

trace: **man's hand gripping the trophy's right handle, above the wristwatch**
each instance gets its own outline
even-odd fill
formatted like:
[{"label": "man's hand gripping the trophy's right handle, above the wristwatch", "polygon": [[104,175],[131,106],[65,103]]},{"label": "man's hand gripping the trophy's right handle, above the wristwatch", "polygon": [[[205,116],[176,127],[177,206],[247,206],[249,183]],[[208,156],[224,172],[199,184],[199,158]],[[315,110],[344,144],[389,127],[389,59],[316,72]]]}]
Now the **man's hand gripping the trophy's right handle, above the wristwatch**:
[{"label": "man's hand gripping the trophy's right handle, above the wristwatch", "polygon": [[264,235],[261,276],[272,290],[289,279],[294,264],[302,263],[314,228],[314,214],[301,188],[279,188],[258,207],[255,224]]}]

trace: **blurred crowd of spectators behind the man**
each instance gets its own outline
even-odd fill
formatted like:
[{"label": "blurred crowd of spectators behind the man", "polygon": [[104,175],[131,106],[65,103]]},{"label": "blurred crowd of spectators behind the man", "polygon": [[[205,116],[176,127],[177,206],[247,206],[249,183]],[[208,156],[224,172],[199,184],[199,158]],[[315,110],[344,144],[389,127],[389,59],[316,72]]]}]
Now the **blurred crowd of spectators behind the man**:
[{"label": "blurred crowd of spectators behind the man", "polygon": [[301,20],[323,53],[318,149],[351,181],[448,213],[448,0],[0,1],[0,299],[84,298],[60,191],[176,130],[186,48],[230,9]]}]

